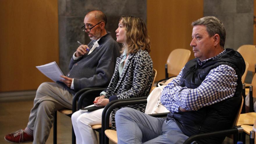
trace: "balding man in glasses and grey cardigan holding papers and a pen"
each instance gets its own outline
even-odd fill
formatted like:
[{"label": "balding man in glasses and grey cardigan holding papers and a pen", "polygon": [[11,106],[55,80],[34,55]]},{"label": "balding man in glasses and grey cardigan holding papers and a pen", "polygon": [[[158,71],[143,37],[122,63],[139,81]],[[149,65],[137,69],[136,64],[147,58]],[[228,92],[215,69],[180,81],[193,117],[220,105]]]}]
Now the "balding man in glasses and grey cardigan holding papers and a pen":
[{"label": "balding man in glasses and grey cardigan holding papers and a pen", "polygon": [[108,86],[116,58],[120,56],[120,47],[106,31],[106,22],[106,15],[99,10],[90,11],[85,16],[82,29],[92,41],[77,48],[70,60],[70,72],[61,76],[62,80],[45,82],[38,87],[27,127],[6,135],[6,141],[44,144],[52,127],[54,112],[72,109],[72,99],[78,90]]}]

